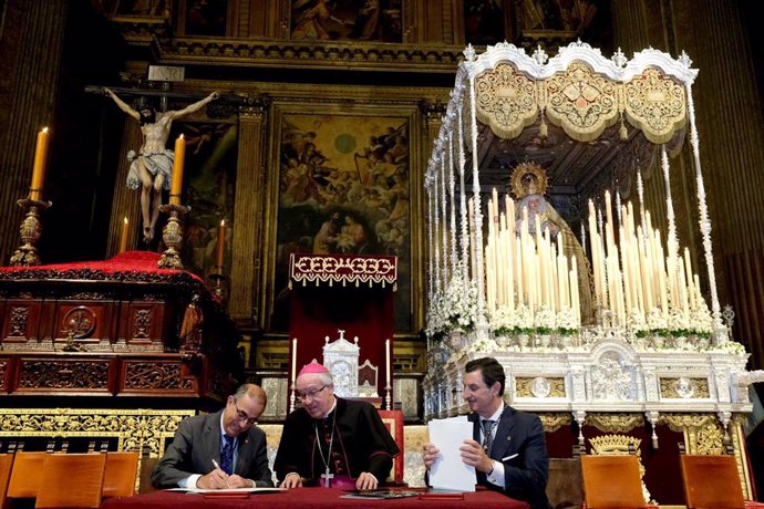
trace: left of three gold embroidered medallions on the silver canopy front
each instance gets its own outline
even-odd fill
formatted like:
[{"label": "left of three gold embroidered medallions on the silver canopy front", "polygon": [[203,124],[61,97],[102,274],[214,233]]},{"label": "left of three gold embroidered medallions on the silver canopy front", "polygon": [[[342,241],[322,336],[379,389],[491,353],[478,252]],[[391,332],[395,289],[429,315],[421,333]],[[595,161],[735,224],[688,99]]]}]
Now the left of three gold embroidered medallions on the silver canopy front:
[{"label": "left of three gold embroidered medallions on the silver canopy front", "polygon": [[538,116],[536,84],[508,63],[475,80],[477,118],[497,136],[515,138]]}]

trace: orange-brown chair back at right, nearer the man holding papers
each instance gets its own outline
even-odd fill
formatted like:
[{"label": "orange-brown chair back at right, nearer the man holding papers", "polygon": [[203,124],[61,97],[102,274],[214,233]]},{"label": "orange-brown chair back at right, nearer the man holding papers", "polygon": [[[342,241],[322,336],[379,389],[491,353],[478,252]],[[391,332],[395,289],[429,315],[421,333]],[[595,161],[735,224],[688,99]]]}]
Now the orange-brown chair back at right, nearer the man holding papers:
[{"label": "orange-brown chair back at right, nearer the man holding papers", "polygon": [[587,509],[647,507],[637,456],[581,456],[581,477]]}]

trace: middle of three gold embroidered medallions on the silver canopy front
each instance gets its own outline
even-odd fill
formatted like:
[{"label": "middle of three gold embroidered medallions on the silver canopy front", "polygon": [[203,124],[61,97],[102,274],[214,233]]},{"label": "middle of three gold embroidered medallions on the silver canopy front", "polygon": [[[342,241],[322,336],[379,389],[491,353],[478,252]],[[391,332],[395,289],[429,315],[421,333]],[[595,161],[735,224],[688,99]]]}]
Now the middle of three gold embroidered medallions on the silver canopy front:
[{"label": "middle of three gold embroidered medallions on the silver canopy front", "polygon": [[618,83],[582,62],[546,81],[546,115],[579,142],[592,142],[618,121]]}]

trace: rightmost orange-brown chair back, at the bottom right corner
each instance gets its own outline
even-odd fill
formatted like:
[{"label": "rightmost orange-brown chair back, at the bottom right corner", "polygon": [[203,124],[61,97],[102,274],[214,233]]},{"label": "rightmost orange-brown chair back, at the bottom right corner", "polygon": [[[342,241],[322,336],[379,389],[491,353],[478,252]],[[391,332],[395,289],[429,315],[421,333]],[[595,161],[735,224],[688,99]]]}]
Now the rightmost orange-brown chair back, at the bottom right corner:
[{"label": "rightmost orange-brown chair back, at the bottom right corner", "polygon": [[688,509],[743,509],[743,487],[734,456],[681,455]]}]

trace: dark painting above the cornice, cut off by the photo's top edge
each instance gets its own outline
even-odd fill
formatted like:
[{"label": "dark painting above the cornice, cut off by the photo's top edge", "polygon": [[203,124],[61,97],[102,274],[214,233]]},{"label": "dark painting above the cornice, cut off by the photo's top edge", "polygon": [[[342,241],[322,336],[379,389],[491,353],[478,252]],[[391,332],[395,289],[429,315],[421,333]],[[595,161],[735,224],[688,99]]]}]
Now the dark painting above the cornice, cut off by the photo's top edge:
[{"label": "dark painting above the cornice, cut off by the photo's top edge", "polygon": [[291,0],[290,39],[403,41],[404,0]]}]

